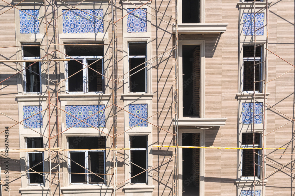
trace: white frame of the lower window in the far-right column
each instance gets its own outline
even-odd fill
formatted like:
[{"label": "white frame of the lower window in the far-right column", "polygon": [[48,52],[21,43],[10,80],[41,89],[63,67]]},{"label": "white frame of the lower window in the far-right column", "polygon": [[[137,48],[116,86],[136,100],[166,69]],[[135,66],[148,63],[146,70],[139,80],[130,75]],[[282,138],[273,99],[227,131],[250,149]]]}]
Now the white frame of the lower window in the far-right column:
[{"label": "white frame of the lower window in the far-right column", "polygon": [[[242,133],[243,134],[243,133]],[[247,145],[241,145],[242,148],[261,148],[261,133],[258,133],[259,134],[259,144],[255,144],[254,147],[253,147],[253,144],[247,144]],[[252,150],[252,149],[251,149]],[[261,155],[261,150],[258,150],[258,154]],[[255,176],[255,179],[260,179],[260,176],[261,176],[261,168],[259,165],[261,165],[261,157],[258,156],[258,162],[257,162],[257,176]],[[253,180],[254,177],[253,175],[252,176],[243,176],[243,149],[241,150],[241,179],[244,179],[244,180]]]}]

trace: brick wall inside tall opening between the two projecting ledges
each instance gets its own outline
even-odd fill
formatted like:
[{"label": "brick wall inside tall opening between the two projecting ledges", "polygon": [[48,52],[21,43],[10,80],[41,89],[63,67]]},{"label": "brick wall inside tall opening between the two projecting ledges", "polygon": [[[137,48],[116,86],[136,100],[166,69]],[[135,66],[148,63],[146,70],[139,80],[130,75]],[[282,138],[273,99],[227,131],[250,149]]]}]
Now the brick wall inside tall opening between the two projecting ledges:
[{"label": "brick wall inside tall opening between the two projecting ledges", "polygon": [[200,116],[200,46],[193,50],[193,115]]}]

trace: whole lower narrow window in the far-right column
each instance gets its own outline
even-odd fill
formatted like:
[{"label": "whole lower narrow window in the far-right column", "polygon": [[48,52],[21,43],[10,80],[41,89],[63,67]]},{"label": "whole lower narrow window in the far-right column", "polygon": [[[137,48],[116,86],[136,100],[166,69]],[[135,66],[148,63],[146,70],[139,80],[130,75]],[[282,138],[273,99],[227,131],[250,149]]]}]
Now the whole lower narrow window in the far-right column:
[{"label": "whole lower narrow window in the far-right column", "polygon": [[[260,133],[255,133],[254,141],[255,148],[260,148]],[[254,148],[253,147],[253,133],[242,133],[242,148]],[[255,153],[261,154],[261,150],[256,150]],[[260,164],[260,156],[255,154],[255,164]],[[255,176],[260,178],[260,167],[255,165]],[[242,177],[253,177],[253,149],[242,149]]]}]

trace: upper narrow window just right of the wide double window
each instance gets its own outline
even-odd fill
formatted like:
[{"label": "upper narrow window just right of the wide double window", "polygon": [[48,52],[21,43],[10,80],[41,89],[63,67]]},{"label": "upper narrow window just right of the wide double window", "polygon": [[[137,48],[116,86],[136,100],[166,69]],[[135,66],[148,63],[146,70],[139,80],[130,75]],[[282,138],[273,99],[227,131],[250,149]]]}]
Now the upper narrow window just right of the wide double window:
[{"label": "upper narrow window just right of the wide double window", "polygon": [[146,42],[128,43],[129,91],[147,93],[147,49]]}]

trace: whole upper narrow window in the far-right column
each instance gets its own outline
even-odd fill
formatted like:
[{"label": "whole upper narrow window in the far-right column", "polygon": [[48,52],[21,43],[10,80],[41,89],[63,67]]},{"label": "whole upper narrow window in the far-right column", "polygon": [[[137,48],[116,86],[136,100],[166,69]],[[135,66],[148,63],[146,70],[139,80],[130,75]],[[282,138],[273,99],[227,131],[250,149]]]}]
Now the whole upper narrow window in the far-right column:
[{"label": "whole upper narrow window in the far-right column", "polygon": [[[254,84],[254,58],[255,58],[255,92],[261,92],[262,85],[262,63],[261,46],[256,47],[254,57],[254,46],[243,46],[243,91],[253,91]],[[260,81],[260,82],[257,82]]]}]

